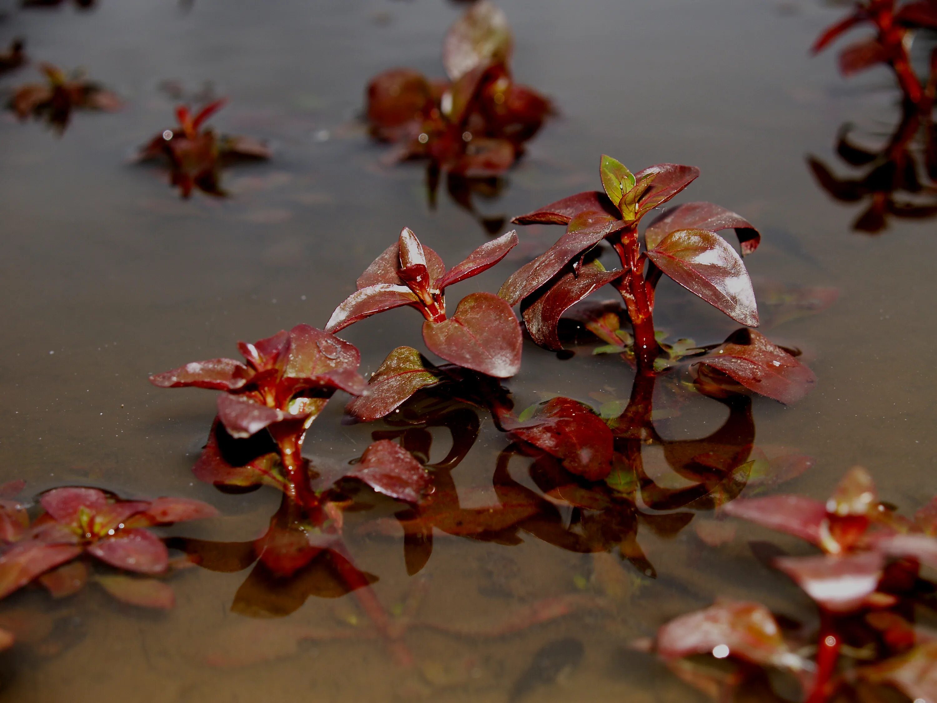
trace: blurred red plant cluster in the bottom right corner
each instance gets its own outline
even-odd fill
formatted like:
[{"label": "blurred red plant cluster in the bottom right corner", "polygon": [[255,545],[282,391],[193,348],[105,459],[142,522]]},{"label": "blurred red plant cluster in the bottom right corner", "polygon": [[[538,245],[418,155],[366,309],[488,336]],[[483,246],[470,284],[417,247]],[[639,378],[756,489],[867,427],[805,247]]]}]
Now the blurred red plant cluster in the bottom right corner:
[{"label": "blurred red plant cluster in the bottom right corner", "polygon": [[[724,512],[823,550],[772,560],[819,607],[817,646],[806,648],[804,633],[782,628],[765,606],[722,601],[658,633],[656,650],[678,675],[718,700],[735,700],[746,689],[781,700],[766,683],[767,669],[792,674],[809,703],[848,694],[884,700],[884,686],[915,701],[937,697],[935,639],[913,624],[933,608],[934,585],[919,569],[937,566],[937,502],[914,518],[899,516],[879,501],[869,473],[855,468],[825,503],[772,495],[735,501]],[[684,659],[692,654],[728,659],[732,667],[701,667]]]}]

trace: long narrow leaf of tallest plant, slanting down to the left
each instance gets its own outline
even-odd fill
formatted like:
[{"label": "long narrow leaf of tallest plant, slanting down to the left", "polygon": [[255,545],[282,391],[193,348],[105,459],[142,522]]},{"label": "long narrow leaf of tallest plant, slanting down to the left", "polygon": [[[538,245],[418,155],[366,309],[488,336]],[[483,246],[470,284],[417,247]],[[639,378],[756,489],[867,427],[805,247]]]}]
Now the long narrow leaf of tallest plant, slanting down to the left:
[{"label": "long narrow leaf of tallest plant, slanting down to the left", "polygon": [[517,305],[562,271],[576,255],[595,247],[608,234],[622,226],[621,220],[616,217],[595,210],[573,217],[566,233],[557,243],[515,271],[504,281],[498,295],[511,306]]}]

